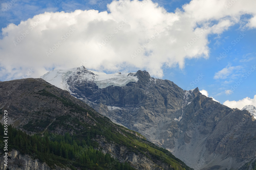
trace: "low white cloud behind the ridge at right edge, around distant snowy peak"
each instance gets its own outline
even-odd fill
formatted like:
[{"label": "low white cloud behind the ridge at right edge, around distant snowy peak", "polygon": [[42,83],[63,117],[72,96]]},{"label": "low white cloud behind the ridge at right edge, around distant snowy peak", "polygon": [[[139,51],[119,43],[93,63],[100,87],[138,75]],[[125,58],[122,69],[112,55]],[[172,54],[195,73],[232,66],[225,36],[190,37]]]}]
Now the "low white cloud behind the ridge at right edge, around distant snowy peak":
[{"label": "low white cloud behind the ridge at right edge, around distant snowy peak", "polygon": [[238,108],[238,109],[242,109],[244,106],[246,105],[253,105],[253,106],[256,106],[256,95],[254,96],[253,99],[251,99],[250,97],[246,97],[242,100],[239,100],[239,101],[225,101],[223,103],[223,105],[225,106],[228,106],[230,108]]}]

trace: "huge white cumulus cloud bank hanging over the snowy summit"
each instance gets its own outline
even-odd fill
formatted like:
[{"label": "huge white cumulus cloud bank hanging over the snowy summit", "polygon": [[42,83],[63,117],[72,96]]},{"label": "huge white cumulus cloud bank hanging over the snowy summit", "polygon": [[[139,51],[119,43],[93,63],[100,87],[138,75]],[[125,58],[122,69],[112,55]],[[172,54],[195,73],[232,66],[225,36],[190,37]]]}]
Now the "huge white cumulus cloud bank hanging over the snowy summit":
[{"label": "huge white cumulus cloud bank hanging over the snowy summit", "polygon": [[[162,77],[164,64],[183,68],[186,58],[208,58],[209,34],[240,23],[241,15],[255,16],[256,1],[228,2],[192,0],[172,13],[150,0],[120,0],[108,5],[109,13],[45,12],[9,24],[0,40],[1,78],[39,77],[80,65],[99,71],[145,69]],[[253,28],[254,20],[249,22]]]}]

